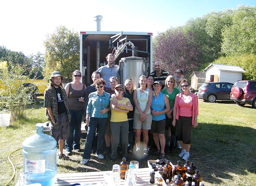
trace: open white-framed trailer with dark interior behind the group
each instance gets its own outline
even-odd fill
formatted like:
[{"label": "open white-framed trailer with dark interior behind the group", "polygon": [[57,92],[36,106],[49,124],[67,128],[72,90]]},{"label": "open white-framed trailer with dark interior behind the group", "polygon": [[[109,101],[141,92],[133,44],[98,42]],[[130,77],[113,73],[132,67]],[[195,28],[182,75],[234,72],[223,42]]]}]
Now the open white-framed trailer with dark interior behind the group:
[{"label": "open white-framed trailer with dark interior behind the group", "polygon": [[[80,32],[80,71],[82,82],[87,86],[92,84],[91,75],[100,66],[106,65],[106,56],[115,52],[115,49],[127,43],[133,43],[134,56],[146,58],[149,63],[148,74],[152,72],[153,38],[151,32],[106,32],[106,31],[81,31]],[[126,45],[127,46],[127,45]],[[124,48],[124,47],[123,47]],[[127,52],[127,53],[126,53]],[[124,52],[115,56],[115,64],[119,60],[132,56],[132,48],[126,47]],[[136,67],[134,67],[136,70]],[[137,81],[137,80],[135,80]]]}]

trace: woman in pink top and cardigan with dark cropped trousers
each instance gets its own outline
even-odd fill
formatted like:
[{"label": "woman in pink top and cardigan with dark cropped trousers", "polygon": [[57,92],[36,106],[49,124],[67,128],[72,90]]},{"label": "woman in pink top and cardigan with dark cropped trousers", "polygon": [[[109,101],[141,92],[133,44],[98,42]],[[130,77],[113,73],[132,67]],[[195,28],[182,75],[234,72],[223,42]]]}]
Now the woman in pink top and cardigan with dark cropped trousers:
[{"label": "woman in pink top and cardigan with dark cropped trousers", "polygon": [[179,157],[188,160],[192,128],[198,125],[198,99],[195,94],[189,92],[187,79],[182,80],[180,84],[183,92],[175,98],[172,125],[176,128],[177,140],[182,148]]}]

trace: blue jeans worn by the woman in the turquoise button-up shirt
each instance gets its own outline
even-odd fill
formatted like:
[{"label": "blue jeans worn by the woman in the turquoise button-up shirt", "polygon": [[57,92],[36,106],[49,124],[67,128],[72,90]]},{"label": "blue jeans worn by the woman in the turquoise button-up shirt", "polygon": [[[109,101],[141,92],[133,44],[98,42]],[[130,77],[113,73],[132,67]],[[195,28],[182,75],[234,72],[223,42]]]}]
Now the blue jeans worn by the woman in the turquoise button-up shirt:
[{"label": "blue jeans worn by the woman in the turquoise button-up shirt", "polygon": [[92,138],[95,135],[96,128],[98,128],[98,142],[97,142],[97,154],[103,154],[103,141],[105,130],[107,126],[108,118],[90,118],[88,126],[87,137],[84,146],[83,159],[90,159],[92,152]]}]

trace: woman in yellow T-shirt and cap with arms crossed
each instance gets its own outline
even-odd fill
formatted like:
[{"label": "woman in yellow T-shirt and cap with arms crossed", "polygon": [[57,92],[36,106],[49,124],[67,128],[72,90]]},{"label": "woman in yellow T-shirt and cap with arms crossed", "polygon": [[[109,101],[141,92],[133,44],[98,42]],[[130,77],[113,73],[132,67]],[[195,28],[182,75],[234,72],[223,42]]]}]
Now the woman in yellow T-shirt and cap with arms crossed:
[{"label": "woman in yellow T-shirt and cap with arms crossed", "polygon": [[117,157],[117,147],[120,142],[121,134],[121,146],[122,146],[122,155],[127,158],[127,147],[128,147],[128,131],[129,131],[129,122],[127,119],[127,113],[133,110],[130,100],[124,95],[123,85],[116,85],[115,94],[117,98],[117,105],[114,105],[114,99],[111,98],[109,105],[111,108],[111,119],[110,119],[110,128],[113,135],[112,143],[112,160],[116,160]]}]

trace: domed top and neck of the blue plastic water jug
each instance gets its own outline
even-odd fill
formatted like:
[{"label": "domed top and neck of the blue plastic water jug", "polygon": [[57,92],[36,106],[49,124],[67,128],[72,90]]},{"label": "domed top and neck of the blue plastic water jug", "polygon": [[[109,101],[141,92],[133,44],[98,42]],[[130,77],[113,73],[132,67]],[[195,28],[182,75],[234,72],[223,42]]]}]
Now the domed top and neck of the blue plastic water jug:
[{"label": "domed top and neck of the blue plastic water jug", "polygon": [[22,143],[22,147],[26,150],[42,151],[55,148],[56,140],[49,135],[43,133],[43,123],[36,124],[36,134],[27,137]]}]

